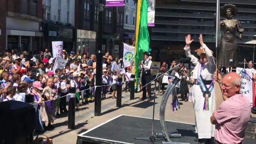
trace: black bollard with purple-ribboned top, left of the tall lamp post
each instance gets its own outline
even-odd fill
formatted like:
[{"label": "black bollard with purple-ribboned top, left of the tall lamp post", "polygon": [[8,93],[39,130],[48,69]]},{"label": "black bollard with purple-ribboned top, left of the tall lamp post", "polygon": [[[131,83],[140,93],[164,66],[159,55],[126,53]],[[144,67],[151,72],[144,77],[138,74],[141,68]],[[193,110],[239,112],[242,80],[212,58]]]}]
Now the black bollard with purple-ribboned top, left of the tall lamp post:
[{"label": "black bollard with purple-ribboned top, left of the tall lamp post", "polygon": [[68,102],[68,129],[75,128],[75,113],[76,113],[76,94],[70,93]]}]

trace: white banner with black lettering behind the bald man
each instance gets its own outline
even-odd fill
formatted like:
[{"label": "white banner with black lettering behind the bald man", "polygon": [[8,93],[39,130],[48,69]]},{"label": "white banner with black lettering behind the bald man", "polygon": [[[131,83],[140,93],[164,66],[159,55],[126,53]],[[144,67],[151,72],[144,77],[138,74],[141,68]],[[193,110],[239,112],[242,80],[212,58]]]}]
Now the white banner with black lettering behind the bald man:
[{"label": "white banner with black lettering behind the bald man", "polygon": [[252,89],[252,84],[254,84],[252,80],[252,69],[236,68],[236,73],[242,78],[240,93],[249,98],[252,107],[252,98],[254,96],[254,90]]}]

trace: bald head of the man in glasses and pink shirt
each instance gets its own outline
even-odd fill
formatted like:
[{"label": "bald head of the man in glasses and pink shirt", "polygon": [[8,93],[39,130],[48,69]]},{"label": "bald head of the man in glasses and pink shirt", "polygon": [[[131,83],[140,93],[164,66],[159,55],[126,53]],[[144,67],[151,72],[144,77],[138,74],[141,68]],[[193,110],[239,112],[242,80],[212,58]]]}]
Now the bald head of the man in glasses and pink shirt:
[{"label": "bald head of the man in glasses and pink shirt", "polygon": [[226,74],[222,80],[222,83],[221,89],[223,90],[223,95],[227,98],[240,94],[242,78],[235,72]]}]

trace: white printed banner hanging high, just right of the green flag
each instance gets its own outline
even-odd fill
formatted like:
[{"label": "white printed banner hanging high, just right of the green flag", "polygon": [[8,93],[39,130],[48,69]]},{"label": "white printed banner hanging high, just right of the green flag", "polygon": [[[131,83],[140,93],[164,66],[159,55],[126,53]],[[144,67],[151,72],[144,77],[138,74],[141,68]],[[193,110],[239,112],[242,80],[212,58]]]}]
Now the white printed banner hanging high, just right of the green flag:
[{"label": "white printed banner hanging high, just right of the green flag", "polygon": [[156,0],[148,0],[148,26],[155,26]]}]

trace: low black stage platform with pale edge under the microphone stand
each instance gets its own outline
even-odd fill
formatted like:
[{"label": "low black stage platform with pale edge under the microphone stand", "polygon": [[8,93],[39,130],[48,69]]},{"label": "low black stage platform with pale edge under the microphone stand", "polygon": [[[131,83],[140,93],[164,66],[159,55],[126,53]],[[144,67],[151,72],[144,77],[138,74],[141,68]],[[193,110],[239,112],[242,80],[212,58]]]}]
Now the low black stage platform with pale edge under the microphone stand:
[{"label": "low black stage platform with pale edge under the microphone stand", "polygon": [[[194,142],[196,137],[194,124],[166,121],[168,132],[180,133],[182,138],[171,138],[172,142]],[[152,131],[152,119],[120,115],[78,135],[77,144],[152,144],[150,141],[135,140],[149,138]],[[154,133],[162,132],[159,120],[154,121]],[[156,142],[162,144],[164,139]],[[256,144],[256,139],[245,138],[243,144]]]}]

